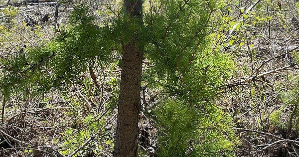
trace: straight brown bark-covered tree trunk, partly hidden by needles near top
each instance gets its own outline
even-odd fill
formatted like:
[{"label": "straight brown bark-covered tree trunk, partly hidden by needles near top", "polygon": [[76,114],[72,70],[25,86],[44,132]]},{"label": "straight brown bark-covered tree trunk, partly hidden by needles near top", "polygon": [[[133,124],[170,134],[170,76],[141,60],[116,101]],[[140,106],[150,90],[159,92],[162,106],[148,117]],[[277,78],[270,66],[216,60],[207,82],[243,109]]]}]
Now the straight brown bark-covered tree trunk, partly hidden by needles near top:
[{"label": "straight brown bark-covered tree trunk, partly hidden by needles near top", "polygon": [[[142,26],[142,0],[124,0],[124,9],[125,15],[138,19]],[[142,48],[137,46],[137,38],[138,35],[123,45],[115,157],[137,157],[140,87],[144,58]]]}]

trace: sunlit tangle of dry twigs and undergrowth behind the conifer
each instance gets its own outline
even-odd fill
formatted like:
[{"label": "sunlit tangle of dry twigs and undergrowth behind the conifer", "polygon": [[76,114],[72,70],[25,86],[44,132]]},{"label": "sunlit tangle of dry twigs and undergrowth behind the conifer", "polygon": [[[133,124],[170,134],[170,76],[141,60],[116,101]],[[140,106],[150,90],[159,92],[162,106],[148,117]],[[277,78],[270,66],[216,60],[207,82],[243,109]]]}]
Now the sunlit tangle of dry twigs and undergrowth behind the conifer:
[{"label": "sunlit tangle of dry twigs and undergrowth behind the conifer", "polygon": [[[122,3],[85,2],[99,23],[114,18]],[[233,122],[233,154],[299,157],[299,1],[226,0],[224,8],[225,22],[215,29],[214,46],[234,64],[216,105],[223,111],[219,116],[229,114]],[[7,56],[50,40],[71,10],[71,3],[56,0],[0,0],[0,70]],[[84,82],[68,88],[64,96],[55,91],[39,101],[11,96],[1,103],[0,156],[112,157],[120,72],[118,61],[95,70],[100,89],[86,73]],[[157,92],[146,86],[141,92],[141,157],[155,156],[157,130],[149,117],[162,94]]]}]

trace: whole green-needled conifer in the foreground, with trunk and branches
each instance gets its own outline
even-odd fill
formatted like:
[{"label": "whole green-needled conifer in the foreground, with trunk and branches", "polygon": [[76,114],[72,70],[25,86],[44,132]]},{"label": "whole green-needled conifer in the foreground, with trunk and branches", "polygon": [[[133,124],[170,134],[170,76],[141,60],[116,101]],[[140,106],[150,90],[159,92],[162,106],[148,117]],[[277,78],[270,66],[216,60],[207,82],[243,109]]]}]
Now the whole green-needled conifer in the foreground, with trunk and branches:
[{"label": "whole green-needled conifer in the foreground, with trunk and branches", "polygon": [[[79,2],[69,25],[58,28],[50,43],[2,60],[3,100],[27,90],[33,98],[67,92],[82,74],[109,65],[117,53],[123,57],[116,157],[137,156],[142,81],[163,93],[153,116],[159,156],[232,155],[231,120],[214,104],[232,68],[229,55],[213,48],[222,7],[221,0],[124,0],[111,23],[96,25],[93,12]],[[151,66],[143,72],[145,58]]]}]

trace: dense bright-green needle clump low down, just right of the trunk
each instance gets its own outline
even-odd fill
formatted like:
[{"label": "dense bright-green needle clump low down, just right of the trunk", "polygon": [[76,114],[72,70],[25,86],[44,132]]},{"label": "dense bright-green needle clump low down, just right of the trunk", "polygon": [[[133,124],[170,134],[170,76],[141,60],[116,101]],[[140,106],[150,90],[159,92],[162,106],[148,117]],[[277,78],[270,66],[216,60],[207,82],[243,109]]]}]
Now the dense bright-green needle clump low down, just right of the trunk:
[{"label": "dense bright-green needle clump low down, just right of the trunk", "polygon": [[[189,142],[196,137],[196,113],[186,102],[169,100],[161,102],[155,109],[159,131],[159,156],[185,156]],[[187,153],[188,154],[188,153]]]}]

